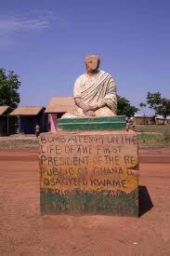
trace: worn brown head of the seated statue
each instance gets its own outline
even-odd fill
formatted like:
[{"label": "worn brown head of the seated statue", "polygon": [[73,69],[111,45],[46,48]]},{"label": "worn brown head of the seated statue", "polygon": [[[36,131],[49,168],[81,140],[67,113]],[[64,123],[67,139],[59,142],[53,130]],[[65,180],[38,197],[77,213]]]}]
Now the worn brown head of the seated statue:
[{"label": "worn brown head of the seated statue", "polygon": [[94,73],[98,70],[100,59],[98,55],[88,55],[85,57],[85,70],[87,73]]}]

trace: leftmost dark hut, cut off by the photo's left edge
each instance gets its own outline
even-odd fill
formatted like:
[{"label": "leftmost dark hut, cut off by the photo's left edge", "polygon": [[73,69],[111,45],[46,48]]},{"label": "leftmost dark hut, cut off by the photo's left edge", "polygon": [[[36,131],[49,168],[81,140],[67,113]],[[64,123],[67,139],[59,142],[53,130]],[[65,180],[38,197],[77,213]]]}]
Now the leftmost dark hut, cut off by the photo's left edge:
[{"label": "leftmost dark hut, cut off by the photo's left edge", "polygon": [[16,132],[15,117],[9,116],[11,111],[8,106],[0,106],[0,136],[7,136]]}]

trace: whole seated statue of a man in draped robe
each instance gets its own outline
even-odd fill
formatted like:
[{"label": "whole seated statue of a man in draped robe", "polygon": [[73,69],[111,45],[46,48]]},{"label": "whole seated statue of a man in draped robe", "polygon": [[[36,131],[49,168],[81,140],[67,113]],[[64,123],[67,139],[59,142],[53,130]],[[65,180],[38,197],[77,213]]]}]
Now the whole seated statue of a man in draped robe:
[{"label": "whole seated statue of a man in draped robe", "polygon": [[85,58],[86,73],[80,75],[74,84],[75,111],[73,115],[65,114],[62,118],[116,115],[116,86],[111,74],[98,70],[99,63],[97,55]]}]

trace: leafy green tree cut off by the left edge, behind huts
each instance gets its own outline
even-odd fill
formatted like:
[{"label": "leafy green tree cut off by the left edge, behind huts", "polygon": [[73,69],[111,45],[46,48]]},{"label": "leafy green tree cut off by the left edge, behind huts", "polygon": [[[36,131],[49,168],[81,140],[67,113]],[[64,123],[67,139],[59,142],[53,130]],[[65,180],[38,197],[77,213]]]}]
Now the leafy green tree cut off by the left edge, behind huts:
[{"label": "leafy green tree cut off by the left edge, behind huts", "polygon": [[6,74],[6,70],[0,68],[0,106],[7,105],[14,109],[20,103],[20,94],[17,91],[20,88],[18,78],[13,71]]}]

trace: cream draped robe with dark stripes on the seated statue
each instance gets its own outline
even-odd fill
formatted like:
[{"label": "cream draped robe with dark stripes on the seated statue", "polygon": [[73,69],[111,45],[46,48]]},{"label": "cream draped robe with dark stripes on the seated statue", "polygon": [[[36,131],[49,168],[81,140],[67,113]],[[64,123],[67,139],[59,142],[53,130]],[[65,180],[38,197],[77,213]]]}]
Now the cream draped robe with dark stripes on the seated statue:
[{"label": "cream draped robe with dark stripes on the seated statue", "polygon": [[[113,116],[117,111],[116,86],[111,74],[99,71],[92,76],[88,74],[80,75],[74,84],[74,98],[81,98],[85,104],[97,106],[101,101],[106,102],[107,106],[98,109],[96,116]],[[75,107],[73,115],[65,114],[62,118],[86,117],[83,110]]]}]

